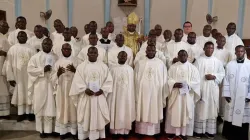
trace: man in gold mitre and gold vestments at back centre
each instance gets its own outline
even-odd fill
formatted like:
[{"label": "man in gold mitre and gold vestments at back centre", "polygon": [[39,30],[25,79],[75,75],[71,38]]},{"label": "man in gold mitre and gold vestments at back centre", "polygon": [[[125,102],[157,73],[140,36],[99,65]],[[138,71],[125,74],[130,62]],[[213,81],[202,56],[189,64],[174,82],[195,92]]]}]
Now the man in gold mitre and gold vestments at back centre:
[{"label": "man in gold mitre and gold vestments at back centre", "polygon": [[125,39],[124,44],[132,49],[134,56],[139,51],[139,45],[142,43],[140,35],[136,32],[136,25],[138,23],[139,17],[134,12],[129,14],[127,29],[123,33]]}]

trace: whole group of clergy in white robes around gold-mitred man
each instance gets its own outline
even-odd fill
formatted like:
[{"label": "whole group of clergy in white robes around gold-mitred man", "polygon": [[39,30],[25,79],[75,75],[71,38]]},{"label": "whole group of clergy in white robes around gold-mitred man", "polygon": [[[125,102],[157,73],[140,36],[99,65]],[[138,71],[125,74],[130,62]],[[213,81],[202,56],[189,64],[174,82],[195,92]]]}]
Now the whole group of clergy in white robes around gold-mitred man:
[{"label": "whole group of clergy in white robes around gold-mitred man", "polygon": [[99,34],[91,21],[78,38],[77,28],[59,19],[51,35],[41,25],[34,33],[26,29],[25,17],[12,32],[0,21],[1,118],[8,118],[11,102],[17,121],[35,120],[41,138],[53,132],[61,139],[157,138],[165,130],[168,139],[187,140],[214,138],[224,117],[223,136],[248,140],[249,49],[235,23],[225,36],[205,25],[196,37],[185,22],[174,40],[160,25],[139,35],[135,13],[127,23],[115,35],[112,22]]}]

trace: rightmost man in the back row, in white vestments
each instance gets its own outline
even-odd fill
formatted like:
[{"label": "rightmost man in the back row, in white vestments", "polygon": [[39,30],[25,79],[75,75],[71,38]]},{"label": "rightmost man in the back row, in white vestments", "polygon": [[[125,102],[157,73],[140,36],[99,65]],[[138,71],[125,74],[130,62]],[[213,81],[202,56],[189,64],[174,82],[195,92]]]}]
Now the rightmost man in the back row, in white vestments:
[{"label": "rightmost man in the back row, in white vestments", "polygon": [[227,35],[226,38],[226,46],[225,48],[232,54],[233,58],[235,58],[235,47],[238,45],[244,45],[241,38],[235,33],[236,31],[236,24],[230,22],[227,25]]}]

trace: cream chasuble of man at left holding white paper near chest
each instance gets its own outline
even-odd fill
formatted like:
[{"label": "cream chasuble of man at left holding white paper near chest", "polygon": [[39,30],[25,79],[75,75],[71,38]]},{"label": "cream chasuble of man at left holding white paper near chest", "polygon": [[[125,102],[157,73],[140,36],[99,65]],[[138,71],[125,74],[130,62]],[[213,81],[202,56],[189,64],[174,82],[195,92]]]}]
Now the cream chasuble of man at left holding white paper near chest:
[{"label": "cream chasuble of man at left holding white paper near chest", "polygon": [[56,115],[56,106],[50,78],[51,71],[44,72],[46,57],[56,61],[54,54],[40,51],[32,56],[28,63],[28,97],[31,101],[29,105],[33,105],[36,116],[53,117]]}]

